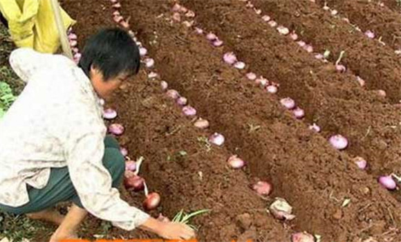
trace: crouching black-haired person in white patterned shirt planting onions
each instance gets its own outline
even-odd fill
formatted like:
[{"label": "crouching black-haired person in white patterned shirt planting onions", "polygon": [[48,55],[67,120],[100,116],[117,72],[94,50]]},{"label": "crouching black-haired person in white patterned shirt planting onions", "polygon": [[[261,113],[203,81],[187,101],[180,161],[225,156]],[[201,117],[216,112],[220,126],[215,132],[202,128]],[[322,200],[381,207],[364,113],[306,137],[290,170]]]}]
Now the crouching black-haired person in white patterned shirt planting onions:
[{"label": "crouching black-haired person in white patterned shirt planting onions", "polygon": [[[180,223],[163,223],[120,198],[124,158],[106,137],[100,97],[138,73],[138,46],[127,32],[91,37],[78,66],[62,55],[14,50],[10,64],[27,82],[0,120],[0,210],[59,225],[51,242],[76,238],[86,214],[124,230],[138,227],[165,239],[191,239]],[[57,203],[72,201],[66,216]]]}]

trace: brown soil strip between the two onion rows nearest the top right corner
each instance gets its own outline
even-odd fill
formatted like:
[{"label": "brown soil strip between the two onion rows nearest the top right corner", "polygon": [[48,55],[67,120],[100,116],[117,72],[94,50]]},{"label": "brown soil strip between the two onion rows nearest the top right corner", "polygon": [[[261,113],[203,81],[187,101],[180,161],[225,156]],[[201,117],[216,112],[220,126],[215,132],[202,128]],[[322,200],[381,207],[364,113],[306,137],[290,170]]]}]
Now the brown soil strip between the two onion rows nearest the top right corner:
[{"label": "brown soil strip between the two onion rows nearest the top right corner", "polygon": [[[344,50],[342,63],[366,80],[369,89],[383,89],[392,103],[401,100],[400,57],[389,47],[377,46],[362,33],[310,1],[252,1],[280,24],[293,28],[318,53],[330,50],[332,62]],[[353,32],[352,32],[353,31]]]}]

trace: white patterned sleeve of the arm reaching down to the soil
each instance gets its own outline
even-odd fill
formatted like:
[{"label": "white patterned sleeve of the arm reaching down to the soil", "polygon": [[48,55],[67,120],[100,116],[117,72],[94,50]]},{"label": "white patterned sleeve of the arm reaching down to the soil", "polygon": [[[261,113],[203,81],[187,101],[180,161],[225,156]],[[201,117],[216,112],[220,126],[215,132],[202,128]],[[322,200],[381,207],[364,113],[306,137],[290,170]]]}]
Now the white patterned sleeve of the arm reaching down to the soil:
[{"label": "white patterned sleeve of the arm reaching down to the soil", "polygon": [[72,138],[67,152],[71,180],[88,212],[124,230],[133,230],[147,221],[149,214],[122,201],[118,189],[111,186],[112,178],[102,164],[102,132]]}]

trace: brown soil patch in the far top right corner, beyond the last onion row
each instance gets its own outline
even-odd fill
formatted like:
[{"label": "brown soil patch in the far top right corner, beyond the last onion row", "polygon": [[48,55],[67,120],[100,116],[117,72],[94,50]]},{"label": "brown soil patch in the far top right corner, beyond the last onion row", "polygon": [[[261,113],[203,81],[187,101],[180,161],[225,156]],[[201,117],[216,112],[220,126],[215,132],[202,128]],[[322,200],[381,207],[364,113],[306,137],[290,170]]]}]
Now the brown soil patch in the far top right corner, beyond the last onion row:
[{"label": "brown soil patch in the far top right corner, beyond the last onion row", "polygon": [[319,6],[339,10],[339,14],[356,24],[362,32],[371,30],[376,38],[395,50],[401,50],[401,12],[394,12],[376,1],[317,0]]}]

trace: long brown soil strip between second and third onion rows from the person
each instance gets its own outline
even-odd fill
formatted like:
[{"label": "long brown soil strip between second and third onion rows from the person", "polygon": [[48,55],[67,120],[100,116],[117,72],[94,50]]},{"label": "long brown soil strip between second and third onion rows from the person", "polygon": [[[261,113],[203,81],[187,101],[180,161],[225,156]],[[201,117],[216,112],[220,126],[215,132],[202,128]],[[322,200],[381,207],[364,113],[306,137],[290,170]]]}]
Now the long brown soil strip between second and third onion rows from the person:
[{"label": "long brown soil strip between second and third onion rows from the person", "polygon": [[[166,19],[171,16],[168,5],[151,1],[123,1],[123,5],[135,23],[138,38],[153,43],[149,53],[162,78],[196,103],[212,129],[228,137],[225,146],[248,161],[250,176],[272,180],[276,187],[273,195],[294,205],[297,218],[291,223],[297,230],[335,241],[356,239],[377,232],[366,229],[369,219],[387,221],[390,215],[380,211],[401,209],[371,176],[357,171],[348,156],[294,120],[276,97],[253,89],[241,73],[222,64],[221,49],[216,50],[191,29],[172,24],[170,17]],[[370,187],[369,192],[364,194],[366,187]],[[341,208],[348,196],[355,203]],[[366,208],[369,212],[359,217],[358,210],[368,203],[372,203]],[[377,223],[371,224],[377,230],[373,224]],[[400,221],[397,218],[384,224],[379,228],[382,232]]]}]

